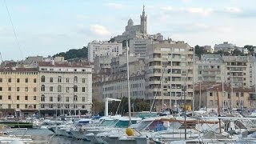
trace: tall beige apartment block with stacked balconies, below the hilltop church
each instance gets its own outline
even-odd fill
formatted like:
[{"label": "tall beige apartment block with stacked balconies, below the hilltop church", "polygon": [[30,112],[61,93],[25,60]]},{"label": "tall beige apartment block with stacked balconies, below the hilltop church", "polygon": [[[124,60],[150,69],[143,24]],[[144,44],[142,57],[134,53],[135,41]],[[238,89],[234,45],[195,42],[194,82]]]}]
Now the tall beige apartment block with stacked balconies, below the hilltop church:
[{"label": "tall beige apartment block with stacked balconies, below the hilltop church", "polygon": [[187,43],[166,40],[154,44],[146,57],[146,98],[178,106],[186,95],[190,103],[193,67],[193,49]]}]

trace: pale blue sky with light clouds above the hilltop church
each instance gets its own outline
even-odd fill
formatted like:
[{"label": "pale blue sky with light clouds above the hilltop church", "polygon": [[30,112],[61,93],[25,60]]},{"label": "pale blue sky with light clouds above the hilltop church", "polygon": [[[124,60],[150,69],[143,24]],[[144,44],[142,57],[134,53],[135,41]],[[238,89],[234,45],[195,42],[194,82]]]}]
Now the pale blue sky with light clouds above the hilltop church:
[{"label": "pale blue sky with light clouds above the hilltop church", "polygon": [[2,60],[46,57],[109,40],[125,31],[129,18],[140,24],[143,5],[149,34],[190,46],[256,45],[255,0],[0,0]]}]

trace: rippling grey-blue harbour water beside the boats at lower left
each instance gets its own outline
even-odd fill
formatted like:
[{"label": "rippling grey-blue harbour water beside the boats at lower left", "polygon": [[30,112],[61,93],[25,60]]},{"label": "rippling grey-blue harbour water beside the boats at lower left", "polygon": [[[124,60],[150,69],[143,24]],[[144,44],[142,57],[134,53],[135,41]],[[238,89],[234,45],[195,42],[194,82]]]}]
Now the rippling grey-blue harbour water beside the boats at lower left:
[{"label": "rippling grey-blue harbour water beside the boats at lower left", "polygon": [[[19,132],[15,132],[12,134],[16,134],[16,135],[32,135],[32,139],[36,140],[36,141],[49,141],[50,136],[52,136],[54,133],[48,129],[29,129],[27,131],[22,130]],[[50,140],[50,144],[80,144],[80,143],[85,143],[85,144],[89,144],[90,142],[86,142],[83,140],[77,140],[75,138],[66,138],[66,137],[62,137],[62,136],[54,136],[53,138],[51,138]]]}]

